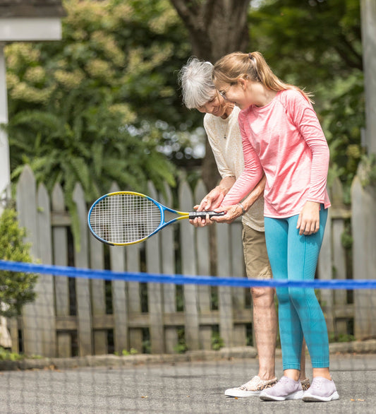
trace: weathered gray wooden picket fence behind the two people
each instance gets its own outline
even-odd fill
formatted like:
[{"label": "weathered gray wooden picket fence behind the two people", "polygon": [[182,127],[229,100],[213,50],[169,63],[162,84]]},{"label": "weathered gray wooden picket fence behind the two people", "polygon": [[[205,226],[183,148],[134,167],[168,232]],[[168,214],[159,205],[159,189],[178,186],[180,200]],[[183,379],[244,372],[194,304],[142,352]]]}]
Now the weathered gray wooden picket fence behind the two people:
[{"label": "weathered gray wooden picket fence behind the two people", "polygon": [[[114,185],[109,191],[117,189]],[[152,184],[148,191],[154,199],[174,206],[168,187],[165,197],[157,194]],[[361,190],[356,187],[356,191]],[[202,182],[194,194],[182,182],[178,208],[189,211],[205,194]],[[73,199],[80,218],[80,249],[73,245],[71,218],[61,187],[56,185],[50,196],[43,184],[36,186],[32,171],[25,167],[17,187],[18,215],[20,224],[28,228],[32,255],[42,264],[208,276],[209,232],[214,231],[217,270],[213,276],[245,276],[240,221],[195,229],[183,220],[144,243],[107,247],[90,235],[88,206],[80,184],[75,187]],[[317,268],[317,276],[322,279],[351,276],[348,254],[341,244],[351,211],[341,200],[341,185],[336,182]],[[182,343],[188,350],[209,350],[216,331],[226,347],[252,342],[249,289],[40,275],[36,290],[35,302],[24,307],[22,316],[8,321],[15,352],[46,357],[121,354],[124,350],[175,353]],[[372,295],[368,298],[372,301]],[[320,300],[334,338],[346,335],[353,324],[360,326],[358,331],[355,329],[358,338],[374,335],[363,296],[358,308],[355,292],[349,295],[344,290],[321,290]]]}]

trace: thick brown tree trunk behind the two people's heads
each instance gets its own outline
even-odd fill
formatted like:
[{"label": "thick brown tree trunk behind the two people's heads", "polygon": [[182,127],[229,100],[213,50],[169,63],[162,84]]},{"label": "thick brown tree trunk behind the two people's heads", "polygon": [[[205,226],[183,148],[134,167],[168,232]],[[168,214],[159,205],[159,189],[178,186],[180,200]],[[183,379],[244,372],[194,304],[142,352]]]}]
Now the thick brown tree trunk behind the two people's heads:
[{"label": "thick brown tree trunk behind the two people's heads", "polygon": [[[188,29],[192,52],[214,63],[225,54],[246,51],[249,42],[249,0],[171,0]],[[202,179],[208,189],[218,182],[214,155],[206,141]]]}]

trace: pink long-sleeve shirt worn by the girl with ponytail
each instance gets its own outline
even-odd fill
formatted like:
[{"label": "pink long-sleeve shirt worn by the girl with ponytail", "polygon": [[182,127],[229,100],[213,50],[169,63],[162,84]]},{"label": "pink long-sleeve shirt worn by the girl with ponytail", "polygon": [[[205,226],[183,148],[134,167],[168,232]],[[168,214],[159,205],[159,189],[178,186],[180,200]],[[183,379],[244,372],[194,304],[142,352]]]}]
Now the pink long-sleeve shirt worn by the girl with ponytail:
[{"label": "pink long-sleeve shirt worn by the girl with ponytail", "polygon": [[265,217],[301,213],[306,201],[330,206],[329,148],[313,106],[298,91],[280,90],[263,107],[250,105],[238,116],[244,171],[222,201],[243,200],[265,172]]}]

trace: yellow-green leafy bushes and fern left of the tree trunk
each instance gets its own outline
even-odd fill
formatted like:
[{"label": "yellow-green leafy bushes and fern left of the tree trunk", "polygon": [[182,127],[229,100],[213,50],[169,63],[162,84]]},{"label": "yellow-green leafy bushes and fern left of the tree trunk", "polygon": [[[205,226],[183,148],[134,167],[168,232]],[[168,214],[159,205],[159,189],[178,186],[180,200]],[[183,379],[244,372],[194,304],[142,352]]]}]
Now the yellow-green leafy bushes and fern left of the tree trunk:
[{"label": "yellow-green leafy bushes and fern left of the tree trunk", "polygon": [[30,164],[49,191],[62,185],[73,215],[76,182],[88,202],[113,181],[135,191],[147,180],[174,185],[161,148],[185,127],[161,120],[182,117],[171,74],[189,49],[174,9],[166,0],[63,3],[60,42],[6,47],[12,179]]}]

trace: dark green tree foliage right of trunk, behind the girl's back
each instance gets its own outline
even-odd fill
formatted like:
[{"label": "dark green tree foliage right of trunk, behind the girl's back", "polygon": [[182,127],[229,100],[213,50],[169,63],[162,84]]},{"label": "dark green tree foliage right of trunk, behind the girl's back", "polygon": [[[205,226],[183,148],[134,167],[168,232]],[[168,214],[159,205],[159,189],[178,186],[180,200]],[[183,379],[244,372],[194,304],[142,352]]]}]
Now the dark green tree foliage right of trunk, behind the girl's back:
[{"label": "dark green tree foliage right of trunk, behind the girl's back", "polygon": [[267,0],[249,14],[251,49],[315,94],[331,150],[329,179],[356,174],[365,122],[359,0]]}]

